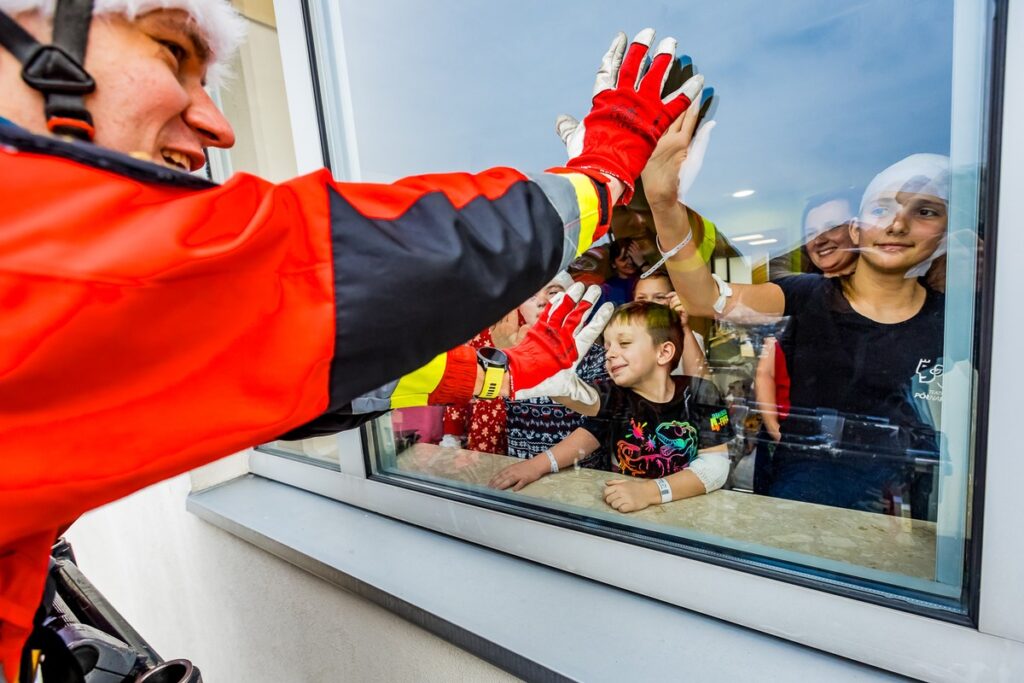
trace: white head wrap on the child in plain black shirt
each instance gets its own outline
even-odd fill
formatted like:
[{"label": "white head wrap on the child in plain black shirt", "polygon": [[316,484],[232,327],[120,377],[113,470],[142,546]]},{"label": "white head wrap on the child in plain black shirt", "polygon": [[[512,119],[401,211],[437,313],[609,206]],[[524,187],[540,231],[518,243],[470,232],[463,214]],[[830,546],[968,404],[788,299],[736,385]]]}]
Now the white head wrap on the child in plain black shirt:
[{"label": "white head wrap on the child in plain black shirt", "polygon": [[[949,203],[949,157],[918,154],[901,159],[879,173],[867,185],[860,200],[860,212],[881,198],[895,197],[898,193],[931,195],[947,205]],[[927,259],[910,268],[907,278],[921,278],[928,272],[932,262],[946,253],[946,238]]]}]

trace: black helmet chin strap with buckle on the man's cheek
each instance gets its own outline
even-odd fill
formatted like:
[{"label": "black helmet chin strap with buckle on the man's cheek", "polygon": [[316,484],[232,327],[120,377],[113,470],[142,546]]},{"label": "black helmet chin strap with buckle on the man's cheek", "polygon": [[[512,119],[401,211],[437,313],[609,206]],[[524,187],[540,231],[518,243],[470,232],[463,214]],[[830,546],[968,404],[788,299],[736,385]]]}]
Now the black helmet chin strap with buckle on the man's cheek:
[{"label": "black helmet chin strap with buckle on the man's cheek", "polygon": [[22,62],[22,79],[43,93],[50,132],[86,141],[95,134],[83,101],[96,89],[82,66],[91,19],[92,0],[57,0],[53,44],[42,45],[0,11],[0,45]]}]

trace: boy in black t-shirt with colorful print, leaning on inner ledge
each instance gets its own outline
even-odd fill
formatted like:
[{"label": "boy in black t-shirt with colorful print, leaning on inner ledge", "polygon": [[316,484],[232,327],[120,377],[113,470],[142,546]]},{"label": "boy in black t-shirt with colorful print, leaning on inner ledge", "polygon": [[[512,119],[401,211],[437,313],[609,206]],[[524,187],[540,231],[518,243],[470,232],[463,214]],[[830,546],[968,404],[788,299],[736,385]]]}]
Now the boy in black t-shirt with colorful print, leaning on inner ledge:
[{"label": "boy in black t-shirt with colorful print, leaning on inner ledge", "polygon": [[598,400],[555,399],[588,416],[583,426],[548,451],[496,474],[489,485],[519,490],[602,449],[613,472],[605,502],[620,512],[711,493],[729,474],[729,414],[715,385],[673,377],[683,349],[679,316],[668,306],[635,301],[620,306],[604,330],[610,381],[596,385]]}]

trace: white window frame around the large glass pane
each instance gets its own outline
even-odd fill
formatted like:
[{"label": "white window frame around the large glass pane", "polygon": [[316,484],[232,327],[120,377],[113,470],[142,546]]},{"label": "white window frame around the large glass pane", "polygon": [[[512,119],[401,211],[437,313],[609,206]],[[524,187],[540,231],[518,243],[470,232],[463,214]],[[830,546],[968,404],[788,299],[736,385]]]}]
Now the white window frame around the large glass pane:
[{"label": "white window frame around the large glass pane", "polygon": [[[323,144],[310,76],[310,56],[301,4],[318,13],[334,40],[321,46],[334,76],[345,82],[341,25],[337,6],[327,0],[295,3],[275,0],[274,9],[292,115],[296,161],[300,172],[323,162]],[[1007,18],[1007,84],[1002,120],[1024,120],[1024,88],[1013,87],[1013,75],[1024,73],[1024,3],[1005,3]],[[345,100],[347,93],[336,93]],[[351,109],[340,111],[348,121],[332,134],[354,140]],[[342,117],[342,119],[345,118]],[[340,132],[339,132],[340,131]],[[354,151],[354,146],[350,147]],[[977,628],[929,618],[793,583],[680,557],[557,526],[497,510],[367,478],[362,437],[358,431],[339,434],[340,470],[255,452],[255,474],[378,512],[419,526],[452,535],[519,557],[553,566],[622,589],[653,597],[717,618],[746,626],[801,645],[927,680],[997,680],[1008,672],[1024,671],[1024,535],[1019,529],[1024,458],[1019,455],[1013,414],[1014,390],[1024,386],[1024,364],[1015,356],[1024,339],[1024,316],[1018,312],[1024,292],[1024,130],[1006,125],[1001,131],[997,216],[1002,229],[994,256],[994,311],[991,372],[988,378],[988,428],[984,434],[982,581]],[[354,178],[354,154],[339,176]],[[994,188],[993,188],[994,189]],[[992,245],[986,245],[991,247]],[[986,267],[990,270],[992,261]],[[984,311],[978,311],[983,314]],[[977,539],[976,539],[977,541]],[[629,566],[629,572],[622,567]],[[673,577],[671,582],[650,577]],[[698,589],[695,587],[699,587]]]}]

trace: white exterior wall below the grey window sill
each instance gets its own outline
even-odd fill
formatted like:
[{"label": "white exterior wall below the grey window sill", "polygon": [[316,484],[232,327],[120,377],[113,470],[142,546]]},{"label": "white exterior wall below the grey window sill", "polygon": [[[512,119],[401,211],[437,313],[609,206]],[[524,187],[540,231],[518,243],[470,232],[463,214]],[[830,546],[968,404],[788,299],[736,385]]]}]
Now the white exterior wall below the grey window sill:
[{"label": "white exterior wall below the grey window sill", "polygon": [[[227,464],[228,476],[245,465]],[[161,482],[85,515],[67,538],[157,652],[190,659],[206,683],[516,680],[198,519],[188,490],[187,474]]]}]

